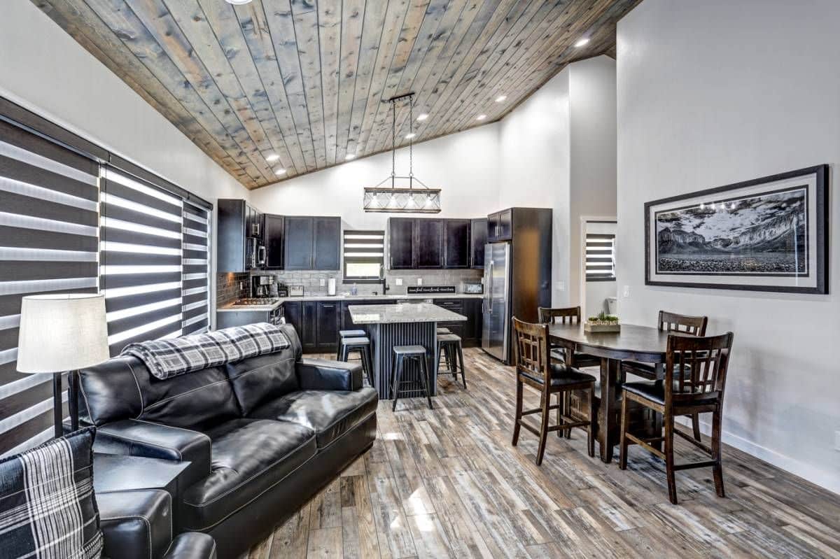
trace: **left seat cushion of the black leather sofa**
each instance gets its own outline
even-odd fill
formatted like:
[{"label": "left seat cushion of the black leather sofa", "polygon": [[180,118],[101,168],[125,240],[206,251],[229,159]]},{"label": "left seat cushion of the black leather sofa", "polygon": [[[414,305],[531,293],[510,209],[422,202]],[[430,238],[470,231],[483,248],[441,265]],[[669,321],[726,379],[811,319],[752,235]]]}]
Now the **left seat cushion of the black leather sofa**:
[{"label": "left seat cushion of the black leather sofa", "polygon": [[315,432],[291,421],[236,419],[213,427],[207,436],[212,472],[184,493],[186,530],[218,524],[318,451]]}]

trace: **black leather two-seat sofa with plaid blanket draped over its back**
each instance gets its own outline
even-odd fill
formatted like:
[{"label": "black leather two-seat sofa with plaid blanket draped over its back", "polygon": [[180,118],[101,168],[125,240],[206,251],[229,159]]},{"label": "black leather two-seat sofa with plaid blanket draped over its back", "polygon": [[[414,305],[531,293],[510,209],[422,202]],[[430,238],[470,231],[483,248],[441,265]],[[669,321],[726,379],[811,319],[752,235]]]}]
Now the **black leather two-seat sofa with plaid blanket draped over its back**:
[{"label": "black leather two-seat sofa with plaid blanket draped over its back", "polygon": [[375,389],[358,363],[302,358],[291,347],[159,380],[137,358],[79,373],[94,450],[190,462],[176,531],[212,535],[235,557],[270,533],[373,444]]}]

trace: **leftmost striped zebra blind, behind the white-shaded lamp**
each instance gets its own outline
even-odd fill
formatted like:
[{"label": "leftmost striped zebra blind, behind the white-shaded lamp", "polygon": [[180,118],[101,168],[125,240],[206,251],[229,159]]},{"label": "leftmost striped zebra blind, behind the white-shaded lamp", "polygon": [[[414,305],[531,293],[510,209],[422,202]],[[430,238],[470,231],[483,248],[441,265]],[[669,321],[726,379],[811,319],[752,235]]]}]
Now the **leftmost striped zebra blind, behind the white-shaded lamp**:
[{"label": "leftmost striped zebra blind, behind the white-shaded lamp", "polygon": [[52,433],[52,375],[15,367],[20,301],[97,291],[98,199],[95,161],[0,122],[0,455]]}]

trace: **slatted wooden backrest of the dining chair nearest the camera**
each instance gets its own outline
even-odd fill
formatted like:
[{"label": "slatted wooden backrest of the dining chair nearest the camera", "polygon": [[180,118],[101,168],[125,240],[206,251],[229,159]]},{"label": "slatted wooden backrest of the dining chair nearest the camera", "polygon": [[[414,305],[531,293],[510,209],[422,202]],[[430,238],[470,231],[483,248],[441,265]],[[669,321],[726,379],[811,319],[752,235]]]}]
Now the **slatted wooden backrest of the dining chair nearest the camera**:
[{"label": "slatted wooden backrest of the dining chair nearest the camera", "polygon": [[731,351],[732,332],[709,337],[685,333],[669,335],[665,405],[675,399],[697,399],[711,392],[718,392],[722,397]]}]

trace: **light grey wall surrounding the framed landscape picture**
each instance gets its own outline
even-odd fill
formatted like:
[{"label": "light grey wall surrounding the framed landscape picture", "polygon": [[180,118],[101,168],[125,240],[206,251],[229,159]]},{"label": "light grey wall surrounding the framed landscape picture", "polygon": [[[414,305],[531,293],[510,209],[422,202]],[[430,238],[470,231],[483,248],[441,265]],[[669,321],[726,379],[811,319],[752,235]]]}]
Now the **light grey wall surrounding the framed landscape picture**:
[{"label": "light grey wall surrounding the framed landscape picture", "polygon": [[[840,160],[840,3],[645,0],[618,24],[622,319],[735,332],[724,440],[840,492],[840,196],[832,295],[644,285],[643,203]],[[724,468],[724,475],[726,475]]]}]

